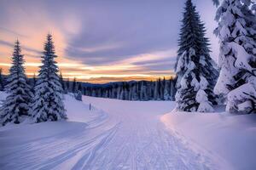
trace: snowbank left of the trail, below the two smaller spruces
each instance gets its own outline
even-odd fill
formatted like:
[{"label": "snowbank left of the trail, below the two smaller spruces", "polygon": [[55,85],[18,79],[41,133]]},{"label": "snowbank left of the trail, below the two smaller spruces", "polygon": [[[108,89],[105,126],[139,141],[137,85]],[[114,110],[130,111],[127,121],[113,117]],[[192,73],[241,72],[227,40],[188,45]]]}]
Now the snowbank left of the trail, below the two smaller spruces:
[{"label": "snowbank left of the trail, below the two smaller spruces", "polygon": [[[0,92],[0,100],[5,99],[5,97],[6,94]],[[97,110],[93,106],[90,109],[89,105],[74,99],[69,94],[65,95],[64,104],[67,110],[67,121],[32,123],[31,120],[27,120],[20,124],[7,124],[4,127],[0,127],[1,144],[6,144],[9,141],[23,143],[33,139],[44,139],[64,133],[67,135],[69,132],[87,127],[96,118],[106,116],[106,113],[103,111]],[[99,120],[102,121],[102,119]]]}]

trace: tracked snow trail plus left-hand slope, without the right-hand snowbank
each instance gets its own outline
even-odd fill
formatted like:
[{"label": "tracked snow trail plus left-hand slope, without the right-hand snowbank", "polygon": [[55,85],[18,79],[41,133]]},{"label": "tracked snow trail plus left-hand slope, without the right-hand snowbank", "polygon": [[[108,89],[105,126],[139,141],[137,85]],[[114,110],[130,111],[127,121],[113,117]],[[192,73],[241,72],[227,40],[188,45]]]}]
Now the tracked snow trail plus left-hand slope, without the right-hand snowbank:
[{"label": "tracked snow trail plus left-hand slope, without the right-hand snowbank", "polygon": [[68,122],[1,127],[2,169],[217,169],[160,122],[170,101],[131,102],[66,96]]}]

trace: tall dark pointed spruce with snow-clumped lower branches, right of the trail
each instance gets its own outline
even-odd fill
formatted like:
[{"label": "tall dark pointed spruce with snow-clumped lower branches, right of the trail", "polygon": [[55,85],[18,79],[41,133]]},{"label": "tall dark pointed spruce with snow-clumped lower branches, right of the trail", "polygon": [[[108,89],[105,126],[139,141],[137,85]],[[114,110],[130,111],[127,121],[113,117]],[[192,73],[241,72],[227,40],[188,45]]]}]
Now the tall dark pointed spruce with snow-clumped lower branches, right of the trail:
[{"label": "tall dark pointed spruce with snow-clumped lower branches, right of the trail", "polygon": [[187,0],[177,51],[177,110],[212,111],[216,98],[212,90],[218,71],[210,57],[205,27],[191,0]]}]

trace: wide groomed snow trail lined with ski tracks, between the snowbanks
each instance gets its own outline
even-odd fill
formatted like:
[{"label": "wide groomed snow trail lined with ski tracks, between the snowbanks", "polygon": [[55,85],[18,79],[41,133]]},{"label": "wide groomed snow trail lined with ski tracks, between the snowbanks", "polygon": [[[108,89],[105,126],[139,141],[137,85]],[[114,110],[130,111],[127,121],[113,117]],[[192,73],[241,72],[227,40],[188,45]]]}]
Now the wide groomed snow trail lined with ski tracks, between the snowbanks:
[{"label": "wide groomed snow trail lined with ski tracks, between the snowbanks", "polygon": [[87,97],[86,102],[107,114],[82,127],[12,146],[0,155],[0,169],[218,169],[166,130],[160,122],[164,111],[148,113],[146,102],[110,100],[103,105],[104,99]]}]

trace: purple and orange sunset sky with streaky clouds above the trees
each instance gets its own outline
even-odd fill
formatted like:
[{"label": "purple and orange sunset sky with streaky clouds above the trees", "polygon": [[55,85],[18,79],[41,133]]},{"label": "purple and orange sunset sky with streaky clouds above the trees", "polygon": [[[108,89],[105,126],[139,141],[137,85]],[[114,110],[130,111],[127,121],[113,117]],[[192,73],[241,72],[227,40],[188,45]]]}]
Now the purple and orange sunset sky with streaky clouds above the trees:
[{"label": "purple and orange sunset sky with streaky clouds above the trees", "polygon": [[[185,0],[1,0],[0,67],[8,72],[19,38],[28,76],[37,74],[47,33],[54,37],[64,77],[84,82],[154,79],[174,75]],[[216,8],[194,0],[206,23],[212,58]]]}]

